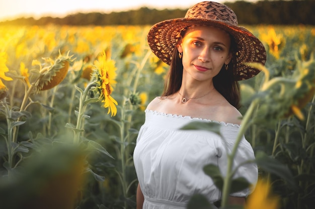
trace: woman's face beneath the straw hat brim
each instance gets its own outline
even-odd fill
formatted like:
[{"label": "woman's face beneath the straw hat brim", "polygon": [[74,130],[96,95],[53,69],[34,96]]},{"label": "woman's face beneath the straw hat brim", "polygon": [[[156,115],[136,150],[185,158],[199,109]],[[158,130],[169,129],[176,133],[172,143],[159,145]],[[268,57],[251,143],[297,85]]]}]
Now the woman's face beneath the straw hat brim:
[{"label": "woman's face beneath the straw hat brim", "polygon": [[178,51],[183,53],[183,77],[212,80],[231,60],[230,44],[228,33],[218,28],[194,26],[187,29],[178,46]]}]

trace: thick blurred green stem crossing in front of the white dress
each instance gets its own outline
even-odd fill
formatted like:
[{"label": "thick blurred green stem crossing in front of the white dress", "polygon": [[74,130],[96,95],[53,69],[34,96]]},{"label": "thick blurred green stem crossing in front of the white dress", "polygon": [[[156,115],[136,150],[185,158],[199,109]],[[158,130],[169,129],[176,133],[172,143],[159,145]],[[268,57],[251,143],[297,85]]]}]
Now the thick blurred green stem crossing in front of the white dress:
[{"label": "thick blurred green stem crossing in front of the white dress", "polygon": [[254,100],[249,109],[247,110],[246,114],[243,117],[242,120],[242,125],[240,127],[239,133],[237,135],[237,138],[235,140],[232,152],[228,154],[227,156],[227,170],[226,170],[226,175],[224,177],[224,182],[223,182],[223,189],[222,189],[222,202],[221,206],[224,208],[228,205],[228,197],[230,194],[230,187],[231,187],[231,181],[233,177],[233,172],[232,172],[232,167],[233,167],[233,159],[235,154],[237,153],[239,144],[243,138],[243,135],[245,131],[247,130],[249,126],[249,122],[252,119],[253,112],[255,111],[256,105],[258,104],[258,100]]}]

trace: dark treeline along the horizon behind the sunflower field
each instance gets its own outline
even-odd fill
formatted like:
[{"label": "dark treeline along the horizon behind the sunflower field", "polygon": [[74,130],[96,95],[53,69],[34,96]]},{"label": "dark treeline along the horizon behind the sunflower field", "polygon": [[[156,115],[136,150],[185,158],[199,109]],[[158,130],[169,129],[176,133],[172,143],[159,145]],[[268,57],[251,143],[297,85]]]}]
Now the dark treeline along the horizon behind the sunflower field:
[{"label": "dark treeline along the horizon behind the sunflower field", "polygon": [[[251,3],[237,1],[225,3],[238,16],[241,25],[274,24],[274,25],[315,25],[315,1],[259,1]],[[153,25],[157,22],[182,18],[187,9],[156,10],[140,8],[126,12],[105,13],[77,13],[64,18],[42,17],[19,18],[11,21],[0,22],[0,25]]]}]

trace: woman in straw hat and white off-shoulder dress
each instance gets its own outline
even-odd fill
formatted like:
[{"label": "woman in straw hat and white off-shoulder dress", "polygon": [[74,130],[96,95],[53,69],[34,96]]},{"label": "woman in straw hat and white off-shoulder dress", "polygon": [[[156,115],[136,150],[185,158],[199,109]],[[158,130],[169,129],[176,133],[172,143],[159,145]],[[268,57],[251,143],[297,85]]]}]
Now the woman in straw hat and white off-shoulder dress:
[{"label": "woman in straw hat and white off-shoulder dress", "polygon": [[[170,71],[162,96],[145,110],[134,150],[137,208],[186,208],[195,193],[215,202],[220,190],[203,167],[217,164],[224,175],[226,154],[241,125],[237,81],[259,73],[244,63],[265,64],[265,48],[238,26],[230,8],[215,2],[198,3],[185,18],[157,23],[147,39]],[[216,121],[224,140],[208,131],[180,130],[191,121]],[[243,137],[233,165],[253,158],[253,149]],[[234,177],[239,176],[255,184],[257,166],[240,166]],[[230,202],[243,204],[249,193],[249,189],[231,193]]]}]

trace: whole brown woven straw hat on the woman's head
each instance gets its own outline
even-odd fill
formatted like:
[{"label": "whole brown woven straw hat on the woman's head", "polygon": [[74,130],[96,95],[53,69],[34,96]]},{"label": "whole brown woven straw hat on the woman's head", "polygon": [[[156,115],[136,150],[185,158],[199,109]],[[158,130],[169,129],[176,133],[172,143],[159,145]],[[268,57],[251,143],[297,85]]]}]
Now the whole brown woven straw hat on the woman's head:
[{"label": "whole brown woven straw hat on the woman's head", "polygon": [[170,65],[181,31],[193,25],[214,26],[234,37],[238,47],[238,51],[233,54],[237,66],[234,72],[236,80],[249,79],[260,72],[243,63],[256,62],[265,65],[266,50],[263,44],[251,32],[238,26],[237,16],[230,8],[216,2],[198,3],[187,11],[185,18],[155,24],[147,35],[148,45],[157,57]]}]

